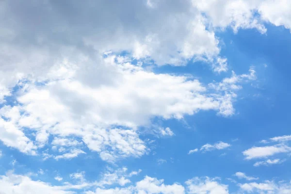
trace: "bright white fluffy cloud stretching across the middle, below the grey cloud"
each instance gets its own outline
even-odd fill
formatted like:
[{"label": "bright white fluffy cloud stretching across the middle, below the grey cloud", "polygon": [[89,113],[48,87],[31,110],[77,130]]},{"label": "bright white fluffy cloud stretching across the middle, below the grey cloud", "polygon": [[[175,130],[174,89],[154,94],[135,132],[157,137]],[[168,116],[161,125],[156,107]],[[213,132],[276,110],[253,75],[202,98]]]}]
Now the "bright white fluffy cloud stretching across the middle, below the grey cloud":
[{"label": "bright white fluffy cloud stretching across the middle, below the grey cloud", "polygon": [[[69,78],[51,79],[39,86],[28,81],[18,92],[17,101],[21,105],[5,107],[6,112],[12,113],[5,112],[10,121],[3,122],[10,122],[18,130],[37,131],[41,144],[48,141],[50,134],[80,137],[103,160],[114,162],[146,153],[146,145],[139,139],[136,128],[147,125],[152,116],[180,119],[184,114],[212,109],[224,115],[233,113],[233,95],[211,94],[207,87],[190,77],[154,74],[128,62],[116,63],[117,59],[113,55],[100,61],[103,71],[113,77],[98,82],[94,79],[88,82],[85,77],[80,80],[84,72],[86,78],[100,73],[99,67],[94,69],[91,65],[85,66],[90,71],[63,66],[72,72]],[[113,125],[132,129],[114,129]],[[162,135],[174,134],[169,128],[160,129]],[[26,138],[24,134],[23,137]],[[70,138],[55,137],[51,144],[81,145]],[[26,144],[32,145],[30,149],[36,148],[28,138]]]}]

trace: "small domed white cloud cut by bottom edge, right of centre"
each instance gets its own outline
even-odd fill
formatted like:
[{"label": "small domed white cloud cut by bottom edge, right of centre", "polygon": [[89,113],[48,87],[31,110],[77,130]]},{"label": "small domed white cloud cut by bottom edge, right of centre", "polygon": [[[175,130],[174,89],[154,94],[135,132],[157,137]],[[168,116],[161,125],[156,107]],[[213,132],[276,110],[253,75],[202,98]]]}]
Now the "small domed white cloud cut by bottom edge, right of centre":
[{"label": "small domed white cloud cut by bottom edge, right of centre", "polygon": [[228,186],[213,178],[192,178],[186,181],[188,194],[229,194]]}]

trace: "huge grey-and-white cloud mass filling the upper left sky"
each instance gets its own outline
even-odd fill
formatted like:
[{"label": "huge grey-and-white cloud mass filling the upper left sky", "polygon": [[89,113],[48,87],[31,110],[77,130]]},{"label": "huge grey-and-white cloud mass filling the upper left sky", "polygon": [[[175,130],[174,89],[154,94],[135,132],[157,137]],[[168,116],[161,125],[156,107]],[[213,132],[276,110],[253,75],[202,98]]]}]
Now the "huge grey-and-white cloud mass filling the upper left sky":
[{"label": "huge grey-and-white cloud mass filling the upper left sky", "polygon": [[[53,146],[74,146],[70,149],[74,153],[43,153],[44,159],[61,159],[84,153],[76,148],[81,145],[75,140],[78,138],[97,151],[102,160],[116,162],[141,157],[148,151],[138,128],[149,126],[153,117],[182,119],[201,110],[233,115],[235,91],[242,82],[255,79],[253,69],[249,74],[233,74],[222,81],[223,85],[205,85],[189,76],[153,73],[130,61],[133,58],[140,59],[139,64],[154,60],[157,65],[186,65],[191,60],[202,60],[216,72],[226,71],[227,59],[220,56],[220,42],[211,26],[225,28],[235,24],[234,29],[262,29],[257,20],[252,21],[247,4],[243,9],[238,4],[227,5],[235,23],[219,23],[208,12],[216,6],[214,1],[207,5],[190,0],[148,2],[146,5],[134,1],[122,7],[108,2],[82,3],[86,12],[77,11],[77,20],[64,18],[56,11],[68,11],[71,5],[62,7],[48,1],[43,6],[41,2],[28,1],[15,6],[13,2],[1,2],[0,16],[11,18],[14,24],[0,21],[0,102],[4,96],[14,95],[16,105],[7,110],[1,108],[0,140],[6,146],[36,155],[51,135],[55,138]],[[29,9],[31,4],[35,9]],[[93,5],[108,10],[97,12]],[[25,11],[20,12],[17,7]],[[32,25],[38,16],[35,10],[49,17],[44,17],[42,24]],[[114,14],[109,14],[110,10]],[[106,19],[96,23],[91,18]],[[90,25],[80,22],[82,19]],[[111,52],[103,59],[108,50]],[[113,54],[123,50],[130,53],[128,57]],[[12,94],[15,86],[19,91]],[[35,133],[35,141],[25,135],[24,128]],[[160,132],[174,135],[170,128]]]}]

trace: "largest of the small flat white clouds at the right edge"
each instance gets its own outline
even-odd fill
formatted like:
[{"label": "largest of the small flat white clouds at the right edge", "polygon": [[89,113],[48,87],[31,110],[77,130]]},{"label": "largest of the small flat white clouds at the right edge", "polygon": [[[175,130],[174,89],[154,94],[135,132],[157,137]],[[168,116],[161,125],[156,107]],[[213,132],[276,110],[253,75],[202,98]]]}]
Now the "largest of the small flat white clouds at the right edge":
[{"label": "largest of the small flat white clouds at the right edge", "polygon": [[247,160],[254,158],[265,158],[268,156],[273,156],[278,153],[290,152],[291,147],[286,145],[275,145],[275,146],[262,146],[262,147],[252,147],[242,152]]}]

